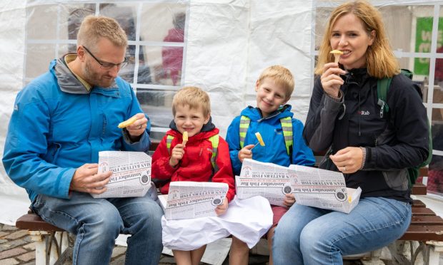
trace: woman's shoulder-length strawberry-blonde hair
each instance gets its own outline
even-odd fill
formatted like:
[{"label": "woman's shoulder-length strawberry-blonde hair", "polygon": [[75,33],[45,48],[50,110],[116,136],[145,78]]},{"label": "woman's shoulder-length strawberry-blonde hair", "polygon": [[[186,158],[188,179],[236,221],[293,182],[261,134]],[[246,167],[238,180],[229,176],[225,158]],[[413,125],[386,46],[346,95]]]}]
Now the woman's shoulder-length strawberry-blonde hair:
[{"label": "woman's shoulder-length strawberry-blonde hair", "polygon": [[387,33],[384,29],[382,15],[374,6],[364,0],[344,3],[332,11],[327,23],[327,30],[323,36],[322,45],[320,46],[315,73],[321,75],[324,64],[334,61],[334,55],[329,53],[332,51],[330,42],[332,27],[338,19],[347,14],[357,16],[357,18],[362,21],[364,29],[368,34],[375,31],[372,46],[368,46],[366,51],[369,75],[375,78],[384,78],[392,77],[400,73],[399,63],[394,53],[392,53],[392,48],[389,45]]}]

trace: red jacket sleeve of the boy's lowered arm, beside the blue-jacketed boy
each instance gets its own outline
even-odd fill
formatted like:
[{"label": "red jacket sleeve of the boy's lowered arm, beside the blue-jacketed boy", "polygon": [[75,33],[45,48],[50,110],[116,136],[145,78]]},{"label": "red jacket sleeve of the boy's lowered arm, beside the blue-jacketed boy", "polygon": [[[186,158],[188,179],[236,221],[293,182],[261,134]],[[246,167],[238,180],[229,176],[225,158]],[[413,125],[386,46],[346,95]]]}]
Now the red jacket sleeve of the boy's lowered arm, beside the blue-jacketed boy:
[{"label": "red jacket sleeve of the boy's lowered arm, beside the blue-jacketed boy", "polygon": [[231,158],[229,157],[229,146],[221,137],[219,137],[219,147],[216,156],[216,169],[218,171],[212,177],[212,181],[227,183],[229,186],[227,198],[230,202],[235,195],[235,179],[232,173]]}]

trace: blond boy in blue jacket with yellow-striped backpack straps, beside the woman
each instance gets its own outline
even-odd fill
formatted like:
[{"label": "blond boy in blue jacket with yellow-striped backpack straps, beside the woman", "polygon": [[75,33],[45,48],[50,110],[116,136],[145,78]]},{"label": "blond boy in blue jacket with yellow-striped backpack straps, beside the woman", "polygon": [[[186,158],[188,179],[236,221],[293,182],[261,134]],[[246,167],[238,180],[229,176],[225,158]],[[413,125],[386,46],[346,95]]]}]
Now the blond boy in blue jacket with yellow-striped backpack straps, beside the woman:
[{"label": "blond boy in blue jacket with yellow-striped backpack straps, beside the woman", "polygon": [[[314,165],[312,150],[303,140],[303,123],[292,118],[291,105],[286,105],[294,90],[294,77],[283,66],[270,66],[262,72],[255,85],[257,107],[248,106],[241,115],[234,118],[227,131],[232,168],[235,175],[240,174],[245,158],[261,162],[272,162],[288,167],[295,165]],[[258,142],[255,133],[262,135],[265,146],[254,145]],[[254,147],[254,150],[252,150]],[[269,245],[269,264],[272,264],[272,236],[279,219],[294,204],[294,195],[287,194],[284,205],[272,205],[273,226],[267,233]],[[229,264],[248,264],[247,244],[232,237]]]}]

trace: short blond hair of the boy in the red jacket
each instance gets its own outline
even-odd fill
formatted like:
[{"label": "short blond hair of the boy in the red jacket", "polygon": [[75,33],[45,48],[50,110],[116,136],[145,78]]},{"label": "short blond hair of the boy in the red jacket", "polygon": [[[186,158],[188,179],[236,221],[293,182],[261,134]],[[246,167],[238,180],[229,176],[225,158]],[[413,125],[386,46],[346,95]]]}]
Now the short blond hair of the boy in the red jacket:
[{"label": "short blond hair of the boy in the red jacket", "polygon": [[209,95],[195,86],[185,86],[181,88],[172,99],[172,115],[175,116],[175,109],[178,105],[189,105],[191,109],[197,109],[201,107],[203,115],[209,115],[211,113],[211,100]]}]

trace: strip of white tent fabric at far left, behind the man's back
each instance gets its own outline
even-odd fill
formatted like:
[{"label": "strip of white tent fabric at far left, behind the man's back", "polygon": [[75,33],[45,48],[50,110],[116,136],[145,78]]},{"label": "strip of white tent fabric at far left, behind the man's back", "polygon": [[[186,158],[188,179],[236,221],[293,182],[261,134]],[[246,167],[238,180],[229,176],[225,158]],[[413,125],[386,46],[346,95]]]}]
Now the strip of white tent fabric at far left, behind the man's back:
[{"label": "strip of white tent fabric at far left, behind the man's back", "polygon": [[[0,6],[0,155],[16,94],[23,85],[26,1],[3,1]],[[12,23],[11,23],[12,22]],[[1,162],[0,162],[1,164]],[[29,199],[0,166],[0,223],[15,224],[27,212]]]}]

